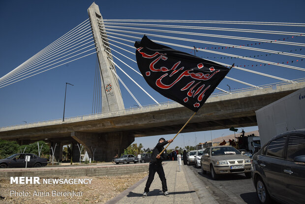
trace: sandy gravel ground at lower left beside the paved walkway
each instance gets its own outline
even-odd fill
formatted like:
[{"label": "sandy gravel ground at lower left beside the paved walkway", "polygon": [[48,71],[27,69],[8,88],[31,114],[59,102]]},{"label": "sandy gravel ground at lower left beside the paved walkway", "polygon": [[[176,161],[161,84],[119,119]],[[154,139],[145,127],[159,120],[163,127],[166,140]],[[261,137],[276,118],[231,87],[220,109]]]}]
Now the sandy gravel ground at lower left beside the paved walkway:
[{"label": "sandy gravel ground at lower left beside the paved walkway", "polygon": [[120,176],[77,177],[92,179],[91,184],[10,184],[10,180],[0,179],[0,204],[106,203],[146,175],[147,172]]}]

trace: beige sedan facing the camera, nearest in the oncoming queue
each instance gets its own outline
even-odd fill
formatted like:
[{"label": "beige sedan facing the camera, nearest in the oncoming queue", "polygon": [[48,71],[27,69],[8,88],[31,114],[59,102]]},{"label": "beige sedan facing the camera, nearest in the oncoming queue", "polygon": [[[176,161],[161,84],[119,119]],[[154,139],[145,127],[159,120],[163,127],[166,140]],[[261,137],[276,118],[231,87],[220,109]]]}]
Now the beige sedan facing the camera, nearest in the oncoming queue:
[{"label": "beige sedan facing the camera, nearest in the oncoming queue", "polygon": [[244,173],[251,178],[251,159],[232,146],[208,147],[201,157],[201,172],[205,174],[207,171],[213,179],[229,173]]}]

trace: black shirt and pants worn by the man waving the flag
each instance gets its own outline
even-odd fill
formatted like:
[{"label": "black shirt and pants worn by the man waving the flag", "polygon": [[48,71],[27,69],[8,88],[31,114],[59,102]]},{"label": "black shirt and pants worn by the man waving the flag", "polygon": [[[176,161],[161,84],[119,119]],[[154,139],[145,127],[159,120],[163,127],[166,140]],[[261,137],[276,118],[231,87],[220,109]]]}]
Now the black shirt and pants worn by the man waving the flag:
[{"label": "black shirt and pants worn by the man waving the flag", "polygon": [[163,152],[160,156],[160,159],[157,159],[156,156],[163,150],[163,146],[167,144],[168,141],[164,141],[162,143],[158,142],[157,145],[154,147],[152,151],[152,156],[150,159],[150,167],[149,167],[149,175],[148,179],[145,185],[144,192],[149,192],[150,187],[154,178],[155,172],[158,173],[159,178],[162,183],[162,191],[165,192],[167,191],[167,184],[166,184],[166,178],[165,178],[165,173],[162,167],[162,159],[164,159],[165,153]]}]

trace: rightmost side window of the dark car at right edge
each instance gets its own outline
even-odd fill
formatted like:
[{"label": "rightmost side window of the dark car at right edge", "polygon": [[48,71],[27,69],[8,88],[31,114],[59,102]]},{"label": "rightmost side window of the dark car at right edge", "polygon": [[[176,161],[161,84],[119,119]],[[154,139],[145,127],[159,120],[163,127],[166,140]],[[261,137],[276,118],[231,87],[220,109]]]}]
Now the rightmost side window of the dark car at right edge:
[{"label": "rightmost side window of the dark car at right edge", "polygon": [[290,136],[287,147],[287,159],[293,161],[297,156],[305,155],[305,136]]}]

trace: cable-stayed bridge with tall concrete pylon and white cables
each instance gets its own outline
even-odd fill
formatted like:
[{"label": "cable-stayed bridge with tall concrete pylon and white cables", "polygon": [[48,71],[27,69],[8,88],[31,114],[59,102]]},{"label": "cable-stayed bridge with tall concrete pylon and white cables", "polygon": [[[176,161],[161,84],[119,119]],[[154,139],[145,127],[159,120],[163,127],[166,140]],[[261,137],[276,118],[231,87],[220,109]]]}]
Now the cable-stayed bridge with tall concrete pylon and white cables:
[{"label": "cable-stayed bridge with tall concrete pylon and white cables", "polygon": [[[0,129],[0,138],[23,142],[48,138],[52,145],[57,143],[61,146],[77,141],[84,144],[90,154],[94,148],[101,149],[95,158],[109,160],[116,153],[121,153],[134,140],[134,136],[176,133],[189,118],[191,111],[175,102],[165,104],[158,102],[151,93],[146,91],[147,88],[143,88],[147,85],[140,84],[140,81],[144,80],[137,71],[133,44],[144,34],[157,43],[217,61],[224,66],[236,64],[224,81],[219,84],[217,91],[186,127],[185,132],[257,125],[255,110],[304,87],[304,79],[300,79],[305,76],[304,68],[302,68],[304,67],[304,55],[302,55],[305,45],[302,43],[304,33],[198,26],[202,23],[213,23],[304,28],[304,24],[103,20],[94,3],[89,8],[89,14],[89,20],[82,22],[25,63],[1,77],[0,88],[97,54],[98,66],[92,113],[100,112],[100,110],[102,113],[67,118],[64,122],[54,120],[4,127]],[[236,35],[211,34],[211,31],[217,31],[217,33],[229,31]],[[239,36],[239,34],[247,33],[272,37]],[[298,40],[295,40],[296,38]],[[300,38],[301,42],[299,42]],[[230,41],[232,43],[225,43],[228,39],[232,40]],[[268,60],[267,57],[276,61]],[[127,69],[130,69],[128,70],[130,73],[134,72],[136,76],[128,74]],[[126,75],[120,76],[120,74]],[[133,81],[135,86],[156,104],[145,106],[139,102],[124,78]],[[262,86],[262,81],[266,81],[266,78],[268,83],[272,84]],[[228,81],[231,86],[240,84],[241,89],[231,90],[227,85]],[[139,108],[124,108],[121,93],[123,87],[128,90]]]}]

